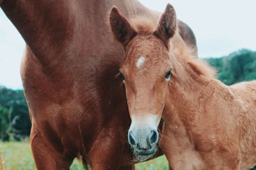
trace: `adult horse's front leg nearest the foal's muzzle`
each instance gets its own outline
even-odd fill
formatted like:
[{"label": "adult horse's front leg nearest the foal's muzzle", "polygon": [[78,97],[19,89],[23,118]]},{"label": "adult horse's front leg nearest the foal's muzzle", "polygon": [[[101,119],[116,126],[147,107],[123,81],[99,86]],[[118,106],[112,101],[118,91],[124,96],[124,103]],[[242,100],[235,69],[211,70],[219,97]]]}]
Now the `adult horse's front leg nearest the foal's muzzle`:
[{"label": "adult horse's front leg nearest the foal's muzzle", "polygon": [[93,170],[117,170],[122,161],[124,150],[124,131],[115,126],[99,132],[89,152]]}]

